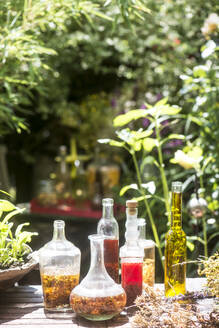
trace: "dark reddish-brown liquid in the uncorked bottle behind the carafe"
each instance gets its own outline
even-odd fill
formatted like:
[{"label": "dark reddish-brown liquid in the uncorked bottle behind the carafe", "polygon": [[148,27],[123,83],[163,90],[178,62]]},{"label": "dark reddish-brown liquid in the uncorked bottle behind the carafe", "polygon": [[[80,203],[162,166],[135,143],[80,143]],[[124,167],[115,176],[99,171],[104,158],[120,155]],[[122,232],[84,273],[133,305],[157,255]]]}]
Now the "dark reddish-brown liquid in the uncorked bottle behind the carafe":
[{"label": "dark reddish-brown liquid in the uncorked bottle behind the carafe", "polygon": [[119,283],[119,241],[104,239],[104,264],[110,277]]}]

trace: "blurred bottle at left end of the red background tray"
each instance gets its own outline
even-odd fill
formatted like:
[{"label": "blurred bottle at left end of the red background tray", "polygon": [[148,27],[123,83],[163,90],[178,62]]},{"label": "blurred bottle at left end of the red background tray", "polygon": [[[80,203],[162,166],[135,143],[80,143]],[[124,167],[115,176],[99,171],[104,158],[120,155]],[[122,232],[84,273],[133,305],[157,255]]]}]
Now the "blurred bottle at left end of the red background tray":
[{"label": "blurred bottle at left end of the red background tray", "polygon": [[66,162],[67,148],[62,145],[59,147],[57,157],[57,168],[55,172],[55,191],[59,199],[67,199],[72,195],[71,175]]}]

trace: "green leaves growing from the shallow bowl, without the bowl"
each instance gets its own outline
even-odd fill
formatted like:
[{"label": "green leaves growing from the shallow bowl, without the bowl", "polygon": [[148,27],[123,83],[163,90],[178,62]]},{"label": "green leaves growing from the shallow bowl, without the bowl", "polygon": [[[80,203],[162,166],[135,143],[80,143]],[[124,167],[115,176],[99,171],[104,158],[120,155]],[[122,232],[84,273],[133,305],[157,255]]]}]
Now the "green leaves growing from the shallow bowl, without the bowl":
[{"label": "green leaves growing from the shallow bowl, without the bowl", "polygon": [[17,208],[9,201],[0,200],[0,269],[23,264],[31,252],[28,243],[31,242],[32,236],[37,235],[37,233],[23,231],[23,227],[29,225],[26,222],[18,225],[13,234],[14,223],[9,222],[16,214],[22,212],[22,209]]}]

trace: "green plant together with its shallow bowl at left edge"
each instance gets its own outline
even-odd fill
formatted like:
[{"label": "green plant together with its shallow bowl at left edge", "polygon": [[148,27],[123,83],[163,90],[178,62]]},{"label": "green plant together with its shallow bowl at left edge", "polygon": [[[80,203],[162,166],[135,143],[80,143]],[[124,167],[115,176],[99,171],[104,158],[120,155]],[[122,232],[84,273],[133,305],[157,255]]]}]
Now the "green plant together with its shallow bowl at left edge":
[{"label": "green plant together with its shallow bowl at left edge", "polygon": [[28,245],[36,232],[23,228],[22,223],[13,229],[11,219],[24,211],[5,199],[0,199],[0,289],[14,285],[38,263],[37,257]]}]

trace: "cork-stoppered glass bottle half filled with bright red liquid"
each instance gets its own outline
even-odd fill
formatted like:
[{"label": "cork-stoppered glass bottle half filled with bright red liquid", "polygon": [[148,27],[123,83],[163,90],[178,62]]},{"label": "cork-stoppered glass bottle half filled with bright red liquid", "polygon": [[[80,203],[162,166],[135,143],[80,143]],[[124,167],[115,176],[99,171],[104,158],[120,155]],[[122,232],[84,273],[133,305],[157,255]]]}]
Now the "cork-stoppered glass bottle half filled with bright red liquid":
[{"label": "cork-stoppered glass bottle half filled with bright red liquid", "polygon": [[125,245],[120,248],[122,287],[127,295],[127,306],[142,293],[142,267],[144,250],[138,243],[137,202],[126,202]]}]

